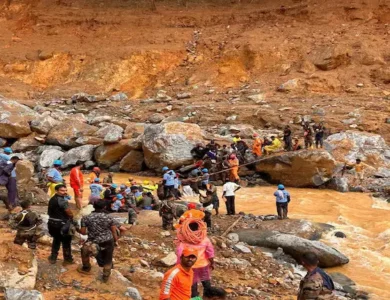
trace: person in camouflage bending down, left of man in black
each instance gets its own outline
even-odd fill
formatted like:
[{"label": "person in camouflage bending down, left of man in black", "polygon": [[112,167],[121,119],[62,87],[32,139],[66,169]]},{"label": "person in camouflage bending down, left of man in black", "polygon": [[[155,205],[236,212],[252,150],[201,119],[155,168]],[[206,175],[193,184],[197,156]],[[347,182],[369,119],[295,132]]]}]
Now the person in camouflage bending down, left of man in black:
[{"label": "person in camouflage bending down, left of man in black", "polygon": [[16,214],[11,219],[11,228],[17,229],[14,244],[23,245],[27,242],[28,248],[36,249],[37,240],[43,235],[40,225],[42,219],[38,213],[31,210],[29,200],[20,203],[23,211]]}]

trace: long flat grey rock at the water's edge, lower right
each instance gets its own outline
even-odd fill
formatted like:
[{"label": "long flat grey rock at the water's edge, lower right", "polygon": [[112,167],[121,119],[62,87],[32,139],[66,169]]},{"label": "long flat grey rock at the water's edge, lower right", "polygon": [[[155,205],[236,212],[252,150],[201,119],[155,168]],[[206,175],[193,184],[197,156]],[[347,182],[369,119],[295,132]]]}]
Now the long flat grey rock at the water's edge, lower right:
[{"label": "long flat grey rock at the water's edge, lower right", "polygon": [[251,246],[267,247],[271,249],[283,249],[295,260],[300,261],[306,252],[314,252],[323,268],[336,267],[347,264],[349,259],[336,249],[319,241],[310,241],[292,234],[279,233],[277,231],[243,230],[237,232],[240,241]]}]

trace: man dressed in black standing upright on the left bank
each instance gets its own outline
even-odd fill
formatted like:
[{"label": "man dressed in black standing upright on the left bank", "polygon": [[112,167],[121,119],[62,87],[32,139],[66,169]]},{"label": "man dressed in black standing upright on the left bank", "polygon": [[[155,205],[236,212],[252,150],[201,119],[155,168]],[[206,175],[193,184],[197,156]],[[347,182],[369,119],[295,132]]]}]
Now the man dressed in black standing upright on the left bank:
[{"label": "man dressed in black standing upright on the left bank", "polygon": [[56,193],[51,197],[48,206],[49,221],[47,226],[50,235],[53,237],[49,262],[51,264],[56,263],[58,251],[62,245],[64,264],[73,264],[72,235],[64,231],[64,225],[69,225],[73,221],[73,213],[68,202],[70,197],[65,185],[57,184],[54,189]]}]

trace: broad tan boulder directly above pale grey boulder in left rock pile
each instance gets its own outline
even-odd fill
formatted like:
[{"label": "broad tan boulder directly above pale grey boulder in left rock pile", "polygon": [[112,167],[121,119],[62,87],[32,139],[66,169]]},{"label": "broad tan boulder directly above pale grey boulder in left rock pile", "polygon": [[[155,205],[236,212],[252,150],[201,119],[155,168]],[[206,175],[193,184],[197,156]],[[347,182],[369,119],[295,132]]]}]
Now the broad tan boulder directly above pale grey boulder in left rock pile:
[{"label": "broad tan boulder directly above pale grey boulder in left rock pile", "polygon": [[97,130],[97,127],[88,125],[82,121],[63,121],[50,130],[46,138],[46,143],[65,148],[74,148],[79,146],[76,142],[79,137],[92,136]]}]

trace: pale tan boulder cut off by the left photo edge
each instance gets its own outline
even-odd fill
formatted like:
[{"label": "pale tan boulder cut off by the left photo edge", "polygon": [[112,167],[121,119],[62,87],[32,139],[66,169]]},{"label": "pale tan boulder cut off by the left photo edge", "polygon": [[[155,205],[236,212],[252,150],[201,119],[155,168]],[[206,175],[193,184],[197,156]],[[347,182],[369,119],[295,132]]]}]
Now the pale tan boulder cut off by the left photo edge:
[{"label": "pale tan boulder cut off by the left photo edge", "polygon": [[37,115],[31,108],[0,96],[0,137],[28,136],[31,133],[29,122]]}]

